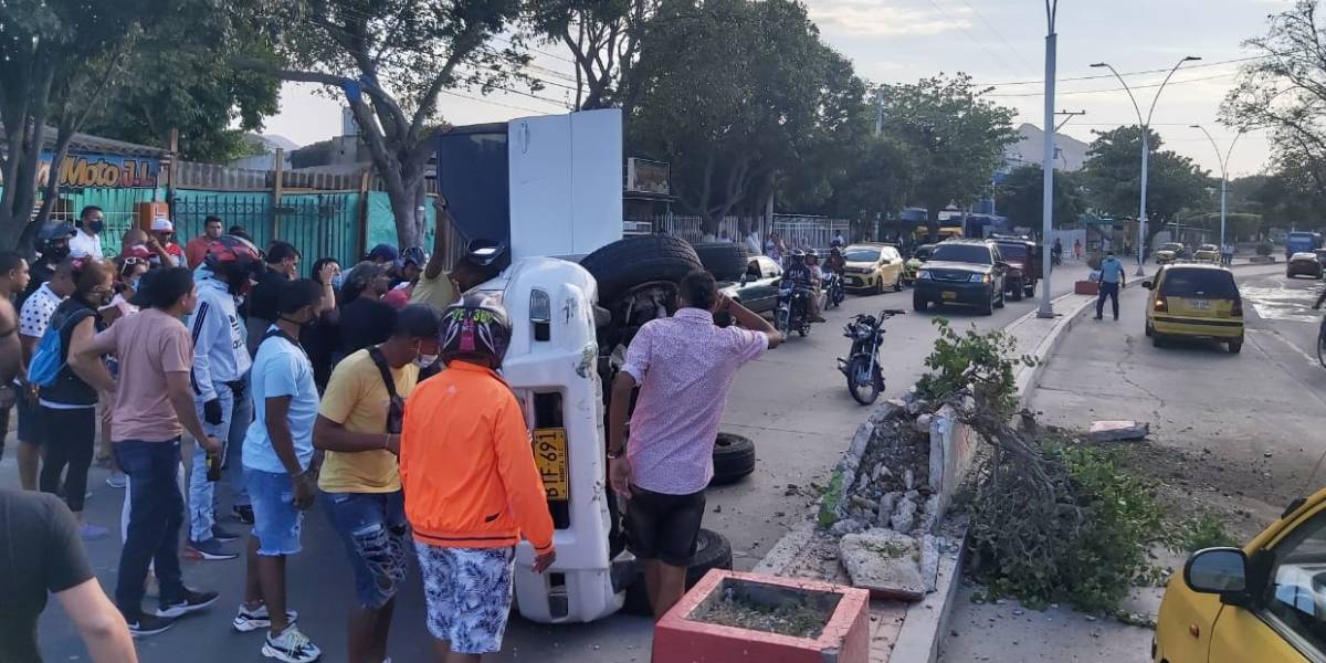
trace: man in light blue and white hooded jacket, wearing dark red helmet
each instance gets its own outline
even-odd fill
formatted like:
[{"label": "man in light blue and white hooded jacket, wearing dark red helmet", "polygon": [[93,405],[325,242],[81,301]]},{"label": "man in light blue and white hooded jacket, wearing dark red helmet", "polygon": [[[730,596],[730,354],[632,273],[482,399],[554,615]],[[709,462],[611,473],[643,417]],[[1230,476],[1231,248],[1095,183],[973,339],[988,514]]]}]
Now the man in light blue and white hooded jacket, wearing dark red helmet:
[{"label": "man in light blue and white hooded jacket, wearing dark red helmet", "polygon": [[[220,440],[223,450],[229,447],[231,422],[240,410],[236,403],[248,398],[244,374],[253,362],[245,345],[244,322],[236,312],[236,297],[247,292],[255,264],[260,264],[257,249],[247,241],[231,236],[213,241],[203,265],[195,271],[198,306],[186,321],[194,335],[194,403],[203,430]],[[215,459],[215,463],[224,461],[225,451]],[[233,560],[239,554],[221,544],[235,541],[239,534],[216,524],[216,489],[215,483],[208,481],[207,463],[207,453],[195,443],[188,479],[186,556]]]}]

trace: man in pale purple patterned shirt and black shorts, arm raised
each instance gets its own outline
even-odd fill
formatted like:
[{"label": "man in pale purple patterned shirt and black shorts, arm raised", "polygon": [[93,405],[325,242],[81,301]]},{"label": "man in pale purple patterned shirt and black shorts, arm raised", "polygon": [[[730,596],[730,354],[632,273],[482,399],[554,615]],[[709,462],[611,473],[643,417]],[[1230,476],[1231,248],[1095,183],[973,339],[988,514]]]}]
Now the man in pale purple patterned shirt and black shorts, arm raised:
[{"label": "man in pale purple patterned shirt and black shorts, arm raised", "polygon": [[[682,280],[678,306],[671,318],[651,320],[635,334],[609,408],[609,477],[627,500],[626,537],[644,560],[655,619],[686,593],[686,566],[704,517],[713,440],[732,379],[744,363],[782,342],[766,320],[720,296],[708,272]],[[745,329],[716,326],[719,312]],[[627,451],[626,412],[636,386]]]}]

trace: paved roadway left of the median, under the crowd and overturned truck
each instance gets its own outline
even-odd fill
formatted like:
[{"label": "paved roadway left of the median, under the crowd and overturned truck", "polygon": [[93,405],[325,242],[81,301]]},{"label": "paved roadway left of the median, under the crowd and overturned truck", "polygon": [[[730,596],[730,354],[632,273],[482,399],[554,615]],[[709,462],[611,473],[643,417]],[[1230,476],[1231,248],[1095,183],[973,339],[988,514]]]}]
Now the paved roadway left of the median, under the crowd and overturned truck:
[{"label": "paved roadway left of the median, under the crowd and overturned truck", "polygon": [[[1071,281],[1086,268],[1062,268],[1054,294],[1071,289]],[[847,394],[835,357],[849,346],[842,325],[854,314],[879,309],[911,308],[911,293],[849,297],[839,310],[826,313],[827,324],[817,325],[812,335],[793,338],[741,371],[724,412],[724,428],[754,439],[757,468],[745,481],[711,492],[711,512],[705,526],[732,540],[735,565],[749,569],[782,536],[789,525],[812,512],[814,497],[786,495],[789,484],[809,487],[825,483],[829,469],[846,448],[847,440],[866,410]],[[1033,310],[1033,301],[1009,302],[993,316],[980,317],[963,309],[931,314],[908,314],[888,322],[886,350],[887,395],[898,395],[916,381],[922,362],[935,338],[931,318],[947,316],[972,322],[981,329],[1001,328]],[[89,518],[118,522],[121,493],[105,487],[105,473],[93,472]],[[0,485],[17,485],[12,453],[0,464]],[[229,522],[229,526],[236,526]],[[236,549],[239,549],[236,546]],[[115,585],[119,544],[97,541],[89,545],[103,586]],[[188,660],[235,662],[260,659],[261,636],[231,631],[232,610],[241,597],[243,561],[186,562],[186,581],[199,587],[217,589],[221,599],[208,614],[180,623],[171,631],[139,643],[145,662]],[[423,625],[423,595],[418,574],[399,598],[390,651],[395,660],[427,660],[431,640]],[[341,542],[326,526],[325,514],[314,508],[305,521],[304,552],[290,561],[290,603],[300,610],[301,629],[318,643],[326,660],[343,658],[345,607],[351,595]],[[647,660],[651,622],[642,618],[613,617],[593,625],[546,627],[513,617],[507,633],[507,651],[492,660],[540,662],[633,662]],[[41,642],[49,660],[85,656],[81,643],[57,606],[48,609],[41,622]]]}]

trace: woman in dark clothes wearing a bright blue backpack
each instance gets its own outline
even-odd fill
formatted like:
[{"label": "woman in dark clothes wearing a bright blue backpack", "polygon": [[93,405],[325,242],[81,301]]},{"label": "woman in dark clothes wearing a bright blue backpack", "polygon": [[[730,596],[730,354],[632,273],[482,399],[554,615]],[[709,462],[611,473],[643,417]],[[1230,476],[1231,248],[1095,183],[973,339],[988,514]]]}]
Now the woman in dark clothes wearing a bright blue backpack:
[{"label": "woman in dark clothes wearing a bright blue backpack", "polygon": [[84,540],[101,538],[107,529],[84,522],[88,469],[97,438],[97,392],[114,391],[115,381],[101,361],[70,362],[78,350],[105,329],[98,309],[110,304],[113,272],[90,257],[70,260],[74,292],[50,316],[28,370],[28,379],[41,387],[42,427],[46,431],[46,461],[38,485],[54,493],[65,473],[65,503],[78,520]]}]

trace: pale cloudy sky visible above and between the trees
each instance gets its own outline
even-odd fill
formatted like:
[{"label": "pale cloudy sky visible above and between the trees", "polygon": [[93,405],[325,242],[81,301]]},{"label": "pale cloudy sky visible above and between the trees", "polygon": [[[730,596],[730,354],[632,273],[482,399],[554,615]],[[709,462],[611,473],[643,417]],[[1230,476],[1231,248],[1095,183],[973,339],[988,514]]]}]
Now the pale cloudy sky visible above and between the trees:
[{"label": "pale cloudy sky visible above and between the trees", "polygon": [[[857,74],[871,82],[915,82],[936,73],[969,73],[992,85],[992,101],[1017,111],[1016,123],[1044,122],[1045,4],[1044,0],[804,0],[823,40],[849,57]],[[1090,142],[1093,131],[1138,122],[1136,111],[1118,81],[1091,69],[1109,62],[1124,74],[1146,114],[1164,73],[1184,56],[1185,64],[1164,88],[1151,126],[1170,149],[1192,158],[1213,175],[1220,172],[1216,149],[1191,125],[1203,125],[1221,152],[1235,131],[1216,118],[1220,101],[1233,86],[1238,62],[1252,54],[1241,44],[1266,30],[1266,16],[1290,0],[1062,0],[1058,7],[1057,110],[1086,111],[1061,133]],[[565,85],[573,72],[568,53],[538,46],[534,64],[552,84]],[[1195,66],[1196,65],[1196,66]],[[560,76],[561,74],[561,76]],[[1009,85],[1025,84],[1025,85]],[[549,85],[534,95],[499,91],[481,97],[456,90],[442,97],[440,111],[453,125],[496,122],[534,114],[565,113],[570,91]],[[341,133],[339,102],[316,93],[316,86],[286,84],[281,113],[268,118],[265,134],[308,145]],[[1238,139],[1229,158],[1229,176],[1266,167],[1266,137],[1261,131]]]}]

